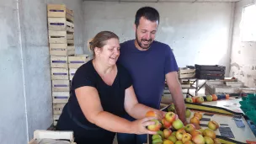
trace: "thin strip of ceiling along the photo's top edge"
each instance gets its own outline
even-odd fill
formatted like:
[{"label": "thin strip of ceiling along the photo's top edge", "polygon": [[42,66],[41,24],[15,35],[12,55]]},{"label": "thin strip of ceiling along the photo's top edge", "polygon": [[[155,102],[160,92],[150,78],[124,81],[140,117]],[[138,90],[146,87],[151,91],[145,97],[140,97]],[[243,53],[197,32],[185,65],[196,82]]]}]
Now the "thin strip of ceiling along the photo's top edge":
[{"label": "thin strip of ceiling along the photo's top edge", "polygon": [[103,2],[136,2],[136,3],[161,3],[161,2],[238,2],[240,0],[83,0],[83,1],[103,1]]}]

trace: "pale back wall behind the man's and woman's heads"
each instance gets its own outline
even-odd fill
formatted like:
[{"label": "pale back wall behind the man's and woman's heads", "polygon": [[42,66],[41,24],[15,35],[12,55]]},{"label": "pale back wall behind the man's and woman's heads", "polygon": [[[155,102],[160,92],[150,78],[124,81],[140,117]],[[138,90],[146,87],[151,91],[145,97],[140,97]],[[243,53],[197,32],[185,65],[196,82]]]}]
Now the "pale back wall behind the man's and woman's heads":
[{"label": "pale back wall behind the man's and woman's heads", "polygon": [[152,6],[160,13],[157,40],[173,49],[179,67],[220,64],[229,73],[233,3],[84,2],[84,38],[111,30],[120,41],[134,39],[136,10]]}]

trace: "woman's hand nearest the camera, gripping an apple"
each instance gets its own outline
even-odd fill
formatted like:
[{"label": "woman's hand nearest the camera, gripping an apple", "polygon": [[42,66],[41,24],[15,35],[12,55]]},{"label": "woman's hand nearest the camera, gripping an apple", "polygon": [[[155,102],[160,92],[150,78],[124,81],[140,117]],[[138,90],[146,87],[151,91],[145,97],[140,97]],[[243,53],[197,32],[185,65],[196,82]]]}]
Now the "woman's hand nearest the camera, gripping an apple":
[{"label": "woman's hand nearest the camera, gripping an apple", "polygon": [[131,130],[134,131],[135,134],[150,134],[154,135],[157,134],[157,131],[149,131],[147,130],[147,125],[155,125],[154,121],[157,120],[157,117],[146,117],[141,120],[134,120],[131,122]]}]

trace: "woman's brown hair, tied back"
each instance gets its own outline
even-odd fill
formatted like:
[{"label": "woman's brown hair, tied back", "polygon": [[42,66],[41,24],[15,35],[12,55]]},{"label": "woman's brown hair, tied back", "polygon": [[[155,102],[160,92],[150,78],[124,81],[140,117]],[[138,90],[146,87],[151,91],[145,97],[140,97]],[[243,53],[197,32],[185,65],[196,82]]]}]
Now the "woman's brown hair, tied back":
[{"label": "woman's brown hair, tied back", "polygon": [[93,51],[93,56],[95,56],[95,47],[102,48],[104,45],[106,45],[107,40],[112,38],[119,40],[119,37],[111,31],[101,31],[95,35],[93,40],[89,42],[90,50]]}]

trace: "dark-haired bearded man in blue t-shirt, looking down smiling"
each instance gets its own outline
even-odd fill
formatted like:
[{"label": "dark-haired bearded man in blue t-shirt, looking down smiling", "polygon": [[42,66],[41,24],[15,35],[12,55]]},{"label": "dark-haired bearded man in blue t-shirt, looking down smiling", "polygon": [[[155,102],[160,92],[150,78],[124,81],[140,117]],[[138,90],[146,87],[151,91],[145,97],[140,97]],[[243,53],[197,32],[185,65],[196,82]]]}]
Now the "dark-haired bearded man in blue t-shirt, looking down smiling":
[{"label": "dark-haired bearded man in blue t-shirt, looking down smiling", "polygon": [[[134,29],[136,40],[120,45],[119,62],[131,73],[136,96],[141,104],[159,109],[165,79],[173,97],[179,119],[186,123],[184,96],[180,87],[175,57],[171,48],[155,41],[159,13],[155,8],[144,7],[136,12]],[[129,115],[127,120],[134,120]],[[117,134],[119,144],[142,144],[145,135]]]}]

